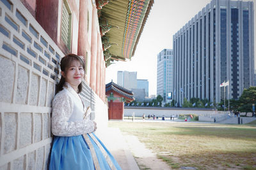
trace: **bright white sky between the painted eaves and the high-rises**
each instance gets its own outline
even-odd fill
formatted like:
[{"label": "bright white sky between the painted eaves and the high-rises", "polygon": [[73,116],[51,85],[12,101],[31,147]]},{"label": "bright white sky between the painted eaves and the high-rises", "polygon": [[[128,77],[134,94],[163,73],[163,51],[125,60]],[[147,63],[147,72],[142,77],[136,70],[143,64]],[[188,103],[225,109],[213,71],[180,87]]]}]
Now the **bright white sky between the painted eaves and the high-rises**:
[{"label": "bright white sky between the painted eaves and the high-rises", "polygon": [[[256,2],[253,1],[256,9]],[[156,95],[157,54],[164,48],[172,49],[173,35],[210,2],[211,0],[154,0],[134,56],[131,61],[118,61],[107,67],[106,83],[111,80],[117,83],[117,71],[137,71],[137,79],[148,80],[149,96]],[[254,23],[256,24],[255,21]],[[256,37],[256,31],[254,34]]]}]

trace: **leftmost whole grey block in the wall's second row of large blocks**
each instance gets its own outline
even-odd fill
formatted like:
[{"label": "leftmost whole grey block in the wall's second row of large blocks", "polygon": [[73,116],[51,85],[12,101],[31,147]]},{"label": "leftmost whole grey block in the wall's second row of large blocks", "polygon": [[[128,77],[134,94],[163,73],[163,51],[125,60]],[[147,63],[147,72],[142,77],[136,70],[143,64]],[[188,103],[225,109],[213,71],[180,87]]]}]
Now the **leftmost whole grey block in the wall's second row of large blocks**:
[{"label": "leftmost whole grey block in the wall's second row of large blocks", "polygon": [[4,113],[4,153],[11,152],[17,146],[17,113]]}]

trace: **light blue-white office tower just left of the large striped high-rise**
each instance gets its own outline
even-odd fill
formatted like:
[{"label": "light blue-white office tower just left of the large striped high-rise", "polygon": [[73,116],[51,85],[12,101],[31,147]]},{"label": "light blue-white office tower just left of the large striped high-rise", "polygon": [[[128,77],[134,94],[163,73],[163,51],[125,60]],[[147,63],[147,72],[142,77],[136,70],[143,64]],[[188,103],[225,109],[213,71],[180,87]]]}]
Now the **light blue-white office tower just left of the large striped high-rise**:
[{"label": "light blue-white office tower just left of the large striped high-rise", "polygon": [[164,102],[172,99],[173,92],[173,50],[164,49],[157,55],[157,96]]}]

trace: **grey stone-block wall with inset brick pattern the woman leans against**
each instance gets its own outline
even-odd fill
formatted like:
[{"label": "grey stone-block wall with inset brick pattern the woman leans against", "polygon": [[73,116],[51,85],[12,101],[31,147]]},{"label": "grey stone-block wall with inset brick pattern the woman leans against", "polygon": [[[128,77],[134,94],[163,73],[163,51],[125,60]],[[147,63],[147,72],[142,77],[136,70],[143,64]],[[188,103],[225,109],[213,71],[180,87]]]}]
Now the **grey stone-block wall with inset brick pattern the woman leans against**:
[{"label": "grey stone-block wall with inset brick pattern the woman leans against", "polygon": [[[0,169],[47,169],[63,53],[18,0],[0,1],[0,37]],[[106,104],[83,87],[92,118],[105,126]]]}]

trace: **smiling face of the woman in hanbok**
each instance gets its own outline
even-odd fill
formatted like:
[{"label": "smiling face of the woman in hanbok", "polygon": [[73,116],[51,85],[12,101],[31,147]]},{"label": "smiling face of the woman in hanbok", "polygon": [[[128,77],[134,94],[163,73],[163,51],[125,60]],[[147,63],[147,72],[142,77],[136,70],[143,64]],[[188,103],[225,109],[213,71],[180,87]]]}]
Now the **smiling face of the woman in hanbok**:
[{"label": "smiling face of the woman in hanbok", "polygon": [[65,72],[61,71],[61,74],[65,77],[65,81],[67,81],[77,92],[78,85],[82,82],[84,77],[82,64],[77,60],[73,60]]}]

